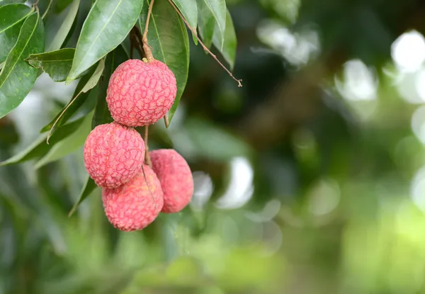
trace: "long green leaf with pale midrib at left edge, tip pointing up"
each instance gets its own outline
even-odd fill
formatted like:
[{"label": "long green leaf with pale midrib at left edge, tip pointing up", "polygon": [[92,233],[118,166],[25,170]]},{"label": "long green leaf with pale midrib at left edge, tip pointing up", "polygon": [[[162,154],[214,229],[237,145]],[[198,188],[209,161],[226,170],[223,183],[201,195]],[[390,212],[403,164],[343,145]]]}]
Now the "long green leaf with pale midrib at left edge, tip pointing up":
[{"label": "long green leaf with pale midrib at left edge, tip pointing up", "polygon": [[16,45],[0,73],[0,118],[13,111],[27,96],[38,76],[24,58],[44,50],[44,28],[38,12],[23,23]]}]

